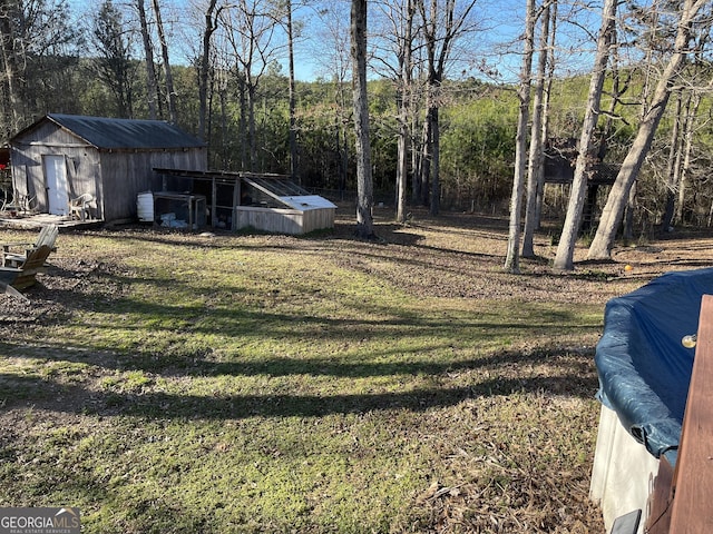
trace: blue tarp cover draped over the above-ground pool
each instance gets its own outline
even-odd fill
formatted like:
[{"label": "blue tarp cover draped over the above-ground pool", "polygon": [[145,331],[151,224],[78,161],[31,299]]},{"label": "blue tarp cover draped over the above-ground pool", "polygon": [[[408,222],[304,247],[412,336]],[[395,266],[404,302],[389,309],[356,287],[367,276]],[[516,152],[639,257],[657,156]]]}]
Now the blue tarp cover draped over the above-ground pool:
[{"label": "blue tarp cover draped over the above-ground pool", "polygon": [[713,268],[667,273],[607,303],[597,344],[599,400],[651,454],[672,464],[694,357],[681,339],[696,334],[706,294],[713,294]]}]

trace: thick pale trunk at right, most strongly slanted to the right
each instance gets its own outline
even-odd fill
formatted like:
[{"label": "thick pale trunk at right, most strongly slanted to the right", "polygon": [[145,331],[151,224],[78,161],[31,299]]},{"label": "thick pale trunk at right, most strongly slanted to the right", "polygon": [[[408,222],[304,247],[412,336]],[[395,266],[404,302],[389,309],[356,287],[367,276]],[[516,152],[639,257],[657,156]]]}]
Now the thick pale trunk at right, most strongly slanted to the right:
[{"label": "thick pale trunk at right, most strongly slanted to the right", "polygon": [[707,3],[707,0],[686,0],[681,14],[681,21],[676,31],[674,52],[668,65],[664,69],[656,89],[652,105],[644,115],[634,142],[624,158],[622,168],[616,177],[616,181],[609,191],[606,205],[602,211],[602,219],[597,227],[597,233],[589,246],[587,257],[589,259],[611,259],[616,229],[622,222],[624,207],[628,198],[629,189],[638,177],[638,172],[644,164],[644,158],[648,154],[654,134],[658,122],[668,103],[668,97],[673,81],[680,72],[686,57],[688,41],[691,40],[691,26],[697,11]]}]

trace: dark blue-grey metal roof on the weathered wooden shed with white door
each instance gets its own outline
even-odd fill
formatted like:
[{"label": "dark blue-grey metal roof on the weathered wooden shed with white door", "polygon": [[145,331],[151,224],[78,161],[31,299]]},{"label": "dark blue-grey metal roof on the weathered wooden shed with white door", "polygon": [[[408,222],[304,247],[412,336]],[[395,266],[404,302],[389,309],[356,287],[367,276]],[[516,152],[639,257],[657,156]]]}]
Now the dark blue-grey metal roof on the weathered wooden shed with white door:
[{"label": "dark blue-grey metal roof on the weathered wooden shed with white door", "polygon": [[163,120],[113,119],[50,113],[14,136],[19,138],[49,120],[99,149],[175,149],[205,144]]}]

